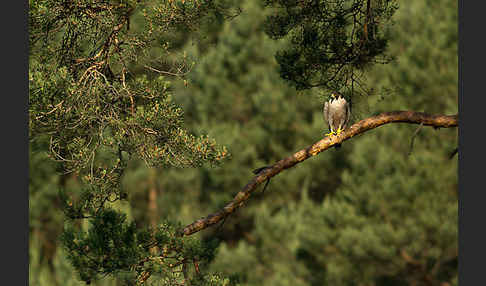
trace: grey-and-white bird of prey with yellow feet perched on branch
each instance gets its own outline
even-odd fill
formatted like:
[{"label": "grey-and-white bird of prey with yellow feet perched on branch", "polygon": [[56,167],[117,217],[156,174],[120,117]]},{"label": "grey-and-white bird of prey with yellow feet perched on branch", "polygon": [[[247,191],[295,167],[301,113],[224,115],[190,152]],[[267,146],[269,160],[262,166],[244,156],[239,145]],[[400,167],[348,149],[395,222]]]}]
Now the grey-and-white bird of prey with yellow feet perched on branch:
[{"label": "grey-and-white bird of prey with yellow feet perched on branch", "polygon": [[[339,135],[351,117],[351,104],[342,95],[332,92],[329,100],[324,102],[323,113],[330,131],[326,136]],[[336,148],[340,146],[341,144],[336,144]]]}]

